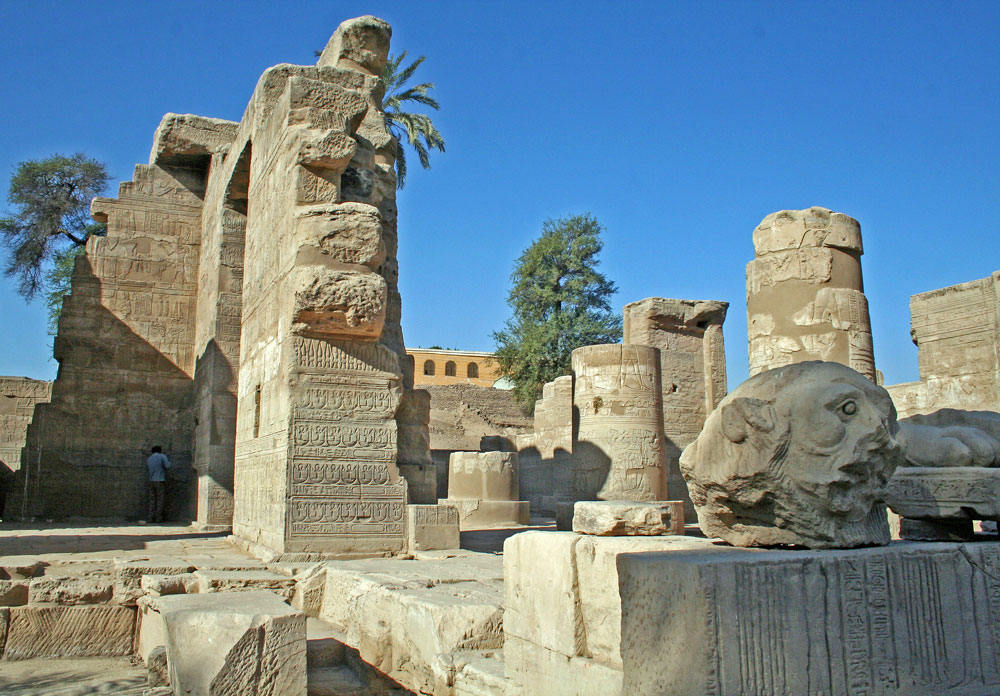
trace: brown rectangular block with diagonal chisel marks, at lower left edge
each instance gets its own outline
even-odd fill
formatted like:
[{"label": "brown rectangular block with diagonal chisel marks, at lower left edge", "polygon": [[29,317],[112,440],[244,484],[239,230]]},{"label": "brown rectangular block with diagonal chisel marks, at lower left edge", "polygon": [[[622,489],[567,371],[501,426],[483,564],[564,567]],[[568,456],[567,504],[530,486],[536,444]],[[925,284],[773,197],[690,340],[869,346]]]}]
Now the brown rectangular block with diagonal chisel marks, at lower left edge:
[{"label": "brown rectangular block with diagonal chisel marks, at lower left edge", "polygon": [[5,660],[129,655],[135,607],[14,607]]}]

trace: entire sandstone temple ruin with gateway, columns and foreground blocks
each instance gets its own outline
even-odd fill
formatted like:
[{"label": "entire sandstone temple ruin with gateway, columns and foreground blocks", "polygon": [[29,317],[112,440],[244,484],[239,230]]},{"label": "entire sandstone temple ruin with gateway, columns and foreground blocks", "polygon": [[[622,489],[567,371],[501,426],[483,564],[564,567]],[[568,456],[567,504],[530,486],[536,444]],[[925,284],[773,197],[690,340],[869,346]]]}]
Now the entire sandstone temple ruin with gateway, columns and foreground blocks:
[{"label": "entire sandstone temple ruin with gateway, columns and foreground blocks", "polygon": [[921,381],[884,388],[860,225],[774,213],[749,380],[727,394],[726,302],[633,302],[531,432],[439,471],[400,329],[389,37],[343,23],[238,123],[168,114],[94,201],[57,379],[0,380],[6,514],[139,517],[160,444],[203,533],[41,559],[0,529],[0,664],[137,656],[149,696],[1000,692],[1000,542],[975,527],[1000,519],[997,274],[914,296]]}]

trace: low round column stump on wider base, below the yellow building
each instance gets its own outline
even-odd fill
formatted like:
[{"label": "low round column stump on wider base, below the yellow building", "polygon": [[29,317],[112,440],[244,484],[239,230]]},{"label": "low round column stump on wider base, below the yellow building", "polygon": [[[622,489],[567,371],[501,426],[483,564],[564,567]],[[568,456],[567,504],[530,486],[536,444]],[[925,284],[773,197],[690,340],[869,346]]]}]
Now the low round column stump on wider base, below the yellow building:
[{"label": "low round column stump on wider base, below the yellow building", "polygon": [[448,497],[458,508],[459,527],[478,529],[528,524],[528,502],[518,495],[517,452],[453,452]]}]

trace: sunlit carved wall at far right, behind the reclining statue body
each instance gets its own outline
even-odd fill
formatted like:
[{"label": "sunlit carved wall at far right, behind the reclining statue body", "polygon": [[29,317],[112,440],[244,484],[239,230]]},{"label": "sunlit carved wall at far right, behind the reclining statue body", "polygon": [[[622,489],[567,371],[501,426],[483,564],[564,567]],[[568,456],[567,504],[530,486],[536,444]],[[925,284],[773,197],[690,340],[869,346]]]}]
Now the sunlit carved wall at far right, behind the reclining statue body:
[{"label": "sunlit carved wall at far right, behind the reclining statue body", "polygon": [[886,389],[900,418],[941,408],[1000,411],[1000,271],[913,295],[920,381]]}]

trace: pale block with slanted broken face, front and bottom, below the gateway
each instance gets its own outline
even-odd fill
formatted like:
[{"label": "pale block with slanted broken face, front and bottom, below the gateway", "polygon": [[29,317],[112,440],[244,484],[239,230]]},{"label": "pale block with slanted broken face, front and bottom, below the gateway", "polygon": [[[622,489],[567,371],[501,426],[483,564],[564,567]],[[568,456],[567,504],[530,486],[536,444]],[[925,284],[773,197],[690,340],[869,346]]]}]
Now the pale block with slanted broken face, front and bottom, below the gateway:
[{"label": "pale block with slanted broken face, front and bottom, below the gateway", "polygon": [[306,693],[306,618],[271,592],[156,600],[175,693]]}]

